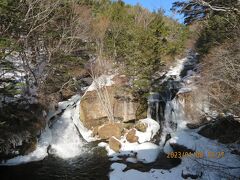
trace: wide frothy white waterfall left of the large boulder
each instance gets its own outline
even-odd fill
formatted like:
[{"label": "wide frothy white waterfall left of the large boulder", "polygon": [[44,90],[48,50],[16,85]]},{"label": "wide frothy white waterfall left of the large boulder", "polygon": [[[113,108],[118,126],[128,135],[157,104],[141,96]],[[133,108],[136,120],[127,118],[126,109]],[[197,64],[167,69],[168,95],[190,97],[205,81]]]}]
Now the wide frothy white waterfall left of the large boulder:
[{"label": "wide frothy white waterfall left of the large boulder", "polygon": [[[67,159],[81,155],[86,149],[83,147],[85,141],[91,141],[91,131],[87,130],[79,119],[80,96],[73,96],[68,101],[60,102],[56,112],[48,117],[56,116],[64,110],[51,128],[46,127],[37,143],[37,148],[25,156],[17,156],[2,164],[17,165],[31,161],[39,161],[54,154],[60,158]],[[81,135],[79,134],[81,133]]]}]

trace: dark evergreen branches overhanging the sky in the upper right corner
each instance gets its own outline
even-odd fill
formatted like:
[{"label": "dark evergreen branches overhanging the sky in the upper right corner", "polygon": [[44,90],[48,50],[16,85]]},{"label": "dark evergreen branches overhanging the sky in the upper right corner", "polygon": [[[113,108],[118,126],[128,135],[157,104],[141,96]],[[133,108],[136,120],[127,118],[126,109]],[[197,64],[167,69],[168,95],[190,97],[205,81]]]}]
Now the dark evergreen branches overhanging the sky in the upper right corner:
[{"label": "dark evergreen branches overhanging the sky in the upper right corner", "polygon": [[185,24],[201,22],[203,28],[197,40],[197,48],[203,55],[216,45],[239,36],[238,0],[176,1],[172,10],[184,15]]}]

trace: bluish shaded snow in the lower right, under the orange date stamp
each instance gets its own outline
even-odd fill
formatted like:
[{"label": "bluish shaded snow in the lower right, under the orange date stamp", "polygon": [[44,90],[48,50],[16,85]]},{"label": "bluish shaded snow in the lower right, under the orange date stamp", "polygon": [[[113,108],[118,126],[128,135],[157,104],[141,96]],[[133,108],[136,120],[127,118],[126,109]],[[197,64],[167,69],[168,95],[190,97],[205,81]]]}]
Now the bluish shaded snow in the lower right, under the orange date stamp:
[{"label": "bluish shaded snow in the lower right, under the orange date stamp", "polygon": [[[124,171],[127,165],[113,163],[111,180],[156,180],[156,179],[184,179],[184,175],[196,175],[198,179],[238,179],[240,177],[240,157],[231,154],[230,149],[216,141],[209,140],[197,134],[193,130],[185,129],[176,132],[164,147],[165,153],[172,152],[169,143],[183,145],[196,152],[203,153],[203,157],[186,156],[182,158],[180,165],[170,169],[151,169],[149,172],[141,172],[134,169]],[[152,155],[152,151],[146,154]],[[214,153],[214,157],[213,157]],[[147,155],[146,155],[147,156]],[[133,161],[134,162],[134,161]],[[191,178],[189,178],[191,179]]]}]

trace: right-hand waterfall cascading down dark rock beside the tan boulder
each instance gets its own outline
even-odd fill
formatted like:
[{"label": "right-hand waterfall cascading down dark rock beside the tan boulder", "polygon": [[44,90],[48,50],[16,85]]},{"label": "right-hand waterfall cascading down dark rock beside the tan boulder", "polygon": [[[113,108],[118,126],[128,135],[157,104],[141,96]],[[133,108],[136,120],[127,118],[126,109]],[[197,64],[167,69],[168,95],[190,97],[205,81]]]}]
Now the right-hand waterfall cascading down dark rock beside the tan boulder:
[{"label": "right-hand waterfall cascading down dark rock beside the tan boulder", "polygon": [[[171,67],[168,73],[165,75],[165,78],[162,81],[162,84],[165,84],[165,90],[161,93],[152,93],[149,96],[148,104],[148,115],[156,119],[155,117],[161,116],[158,122],[161,124],[161,141],[160,146],[163,146],[166,142],[167,136],[172,133],[184,128],[186,126],[186,115],[184,110],[184,102],[178,98],[181,90],[188,90],[187,85],[184,82],[184,78],[188,76],[184,74],[184,71],[191,71],[196,67],[197,58],[196,55],[190,52],[190,55],[187,58],[183,58],[177,61],[176,66]],[[191,65],[191,68],[190,65]],[[187,69],[186,69],[187,65]],[[162,112],[159,113],[159,110],[156,110],[156,107],[159,107],[159,100],[161,103]],[[153,112],[158,113],[153,116]]]}]

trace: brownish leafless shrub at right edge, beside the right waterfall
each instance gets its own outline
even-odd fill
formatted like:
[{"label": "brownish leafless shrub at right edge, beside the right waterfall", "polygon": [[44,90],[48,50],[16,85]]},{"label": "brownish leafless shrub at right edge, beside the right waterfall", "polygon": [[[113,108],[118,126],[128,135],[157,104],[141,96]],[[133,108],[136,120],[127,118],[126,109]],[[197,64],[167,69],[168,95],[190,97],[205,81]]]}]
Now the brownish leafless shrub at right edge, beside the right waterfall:
[{"label": "brownish leafless shrub at right edge, beside the right waterfall", "polygon": [[201,86],[207,89],[212,109],[240,115],[239,41],[212,49],[201,64]]}]

